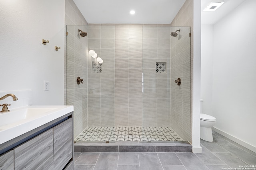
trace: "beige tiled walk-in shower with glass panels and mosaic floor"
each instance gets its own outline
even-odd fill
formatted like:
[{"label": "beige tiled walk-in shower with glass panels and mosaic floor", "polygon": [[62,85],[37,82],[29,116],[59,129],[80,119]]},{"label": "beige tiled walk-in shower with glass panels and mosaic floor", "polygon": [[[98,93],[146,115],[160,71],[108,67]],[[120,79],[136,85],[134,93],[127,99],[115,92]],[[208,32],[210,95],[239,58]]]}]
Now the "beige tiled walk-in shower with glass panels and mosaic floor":
[{"label": "beige tiled walk-in shower with glass panels and mosaic floor", "polygon": [[[74,105],[74,141],[190,142],[190,27],[171,37],[176,27],[169,24],[81,25],[86,38],[76,33],[78,27],[67,25],[73,33],[66,37],[66,104]],[[75,84],[77,76],[84,84]]]}]

